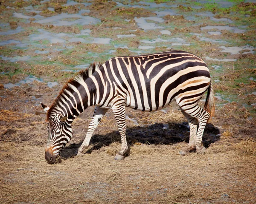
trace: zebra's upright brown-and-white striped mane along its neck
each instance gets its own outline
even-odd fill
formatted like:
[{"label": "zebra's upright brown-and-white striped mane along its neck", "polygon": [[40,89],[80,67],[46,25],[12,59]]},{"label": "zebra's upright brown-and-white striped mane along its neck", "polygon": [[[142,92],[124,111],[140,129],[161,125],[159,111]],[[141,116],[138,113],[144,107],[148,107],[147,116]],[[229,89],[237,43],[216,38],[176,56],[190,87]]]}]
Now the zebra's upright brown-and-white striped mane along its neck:
[{"label": "zebra's upright brown-and-white striped mane along its neck", "polygon": [[83,69],[79,71],[75,77],[69,79],[67,83],[63,86],[58,96],[54,99],[52,105],[50,106],[49,110],[47,111],[47,117],[46,120],[49,121],[52,112],[56,106],[59,105],[59,102],[61,101],[61,98],[63,98],[63,94],[66,92],[66,90],[73,93],[71,86],[75,86],[78,88],[81,85],[81,81],[85,81],[88,79],[102,64],[100,62],[94,62],[90,64],[86,69]]}]

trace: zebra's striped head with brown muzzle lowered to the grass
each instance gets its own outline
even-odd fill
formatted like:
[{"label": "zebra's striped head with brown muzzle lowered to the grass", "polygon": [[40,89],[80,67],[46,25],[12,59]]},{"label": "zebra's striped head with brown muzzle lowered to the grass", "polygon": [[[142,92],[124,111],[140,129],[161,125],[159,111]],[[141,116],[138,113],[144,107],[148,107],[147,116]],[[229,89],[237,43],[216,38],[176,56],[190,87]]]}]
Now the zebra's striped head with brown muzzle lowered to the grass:
[{"label": "zebra's striped head with brown muzzle lowered to the grass", "polygon": [[[48,106],[43,103],[41,105],[45,112],[49,111]],[[57,156],[72,139],[71,122],[67,119],[67,116],[63,116],[60,112],[53,112],[48,119],[47,131],[48,140],[44,157],[47,163],[54,164]]]}]

